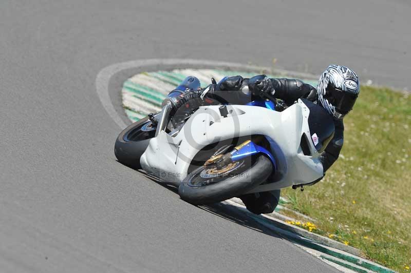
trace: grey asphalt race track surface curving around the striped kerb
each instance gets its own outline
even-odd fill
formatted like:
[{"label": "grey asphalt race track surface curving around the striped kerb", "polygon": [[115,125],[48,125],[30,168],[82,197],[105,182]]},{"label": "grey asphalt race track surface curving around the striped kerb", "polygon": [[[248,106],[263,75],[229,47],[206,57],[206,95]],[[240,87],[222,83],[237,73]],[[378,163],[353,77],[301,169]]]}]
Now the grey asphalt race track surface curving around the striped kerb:
[{"label": "grey asphalt race track surface curving around the striped kerb", "polygon": [[121,128],[96,76],[138,59],[276,58],[312,73],[342,63],[409,89],[411,4],[194,2],[0,4],[0,271],[336,270],[223,205],[192,206],[116,162]]}]

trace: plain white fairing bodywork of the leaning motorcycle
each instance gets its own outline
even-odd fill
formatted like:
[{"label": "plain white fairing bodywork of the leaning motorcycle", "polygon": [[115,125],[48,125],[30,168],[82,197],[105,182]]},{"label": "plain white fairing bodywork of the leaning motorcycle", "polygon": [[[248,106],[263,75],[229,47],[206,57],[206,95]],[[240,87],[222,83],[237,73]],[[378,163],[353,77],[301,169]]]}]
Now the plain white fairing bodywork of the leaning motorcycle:
[{"label": "plain white fairing bodywork of the leaning motorcycle", "polygon": [[[250,192],[306,184],[323,176],[323,166],[310,137],[309,109],[298,103],[282,112],[264,107],[229,105],[223,118],[219,106],[200,107],[175,136],[161,131],[150,141],[140,159],[142,168],[165,181],[179,183],[187,175],[191,159],[201,148],[219,140],[261,134],[268,136],[277,163],[273,183]],[[306,134],[312,156],[304,155],[300,143]]]}]

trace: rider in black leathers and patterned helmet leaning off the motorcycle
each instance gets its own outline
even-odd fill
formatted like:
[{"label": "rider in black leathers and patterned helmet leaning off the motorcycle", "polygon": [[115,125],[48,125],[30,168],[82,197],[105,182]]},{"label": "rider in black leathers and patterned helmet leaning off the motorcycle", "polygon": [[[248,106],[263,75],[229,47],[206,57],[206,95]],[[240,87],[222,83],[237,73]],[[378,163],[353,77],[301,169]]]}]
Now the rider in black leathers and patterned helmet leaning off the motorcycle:
[{"label": "rider in black leathers and patterned helmet leaning off the motorcycle", "polygon": [[[338,159],[343,146],[344,116],[352,109],[360,92],[357,74],[345,66],[330,65],[321,74],[317,87],[295,79],[269,79],[266,75],[257,75],[250,79],[241,76],[228,77],[221,83],[213,84],[205,89],[192,90],[170,99],[174,109],[201,97],[209,97],[232,104],[246,104],[263,94],[282,99],[287,106],[299,98],[305,98],[321,105],[334,118],[335,132],[329,142],[321,162],[325,171]],[[197,101],[197,100],[196,100]],[[313,181],[314,184],[319,180]],[[249,193],[240,196],[247,209],[255,214],[270,213],[278,204],[279,190]]]}]

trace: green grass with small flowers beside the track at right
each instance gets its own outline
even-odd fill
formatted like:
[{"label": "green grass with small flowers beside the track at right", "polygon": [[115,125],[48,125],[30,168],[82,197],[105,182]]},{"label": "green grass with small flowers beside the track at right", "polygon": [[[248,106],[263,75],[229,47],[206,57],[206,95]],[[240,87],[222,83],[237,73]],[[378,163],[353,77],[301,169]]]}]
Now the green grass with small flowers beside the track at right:
[{"label": "green grass with small flowers beside the track at right", "polygon": [[319,233],[391,269],[411,266],[411,96],[362,87],[344,119],[340,159],[320,183],[285,189],[288,207],[314,218]]}]

